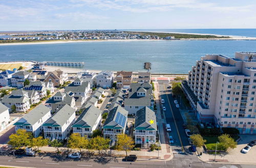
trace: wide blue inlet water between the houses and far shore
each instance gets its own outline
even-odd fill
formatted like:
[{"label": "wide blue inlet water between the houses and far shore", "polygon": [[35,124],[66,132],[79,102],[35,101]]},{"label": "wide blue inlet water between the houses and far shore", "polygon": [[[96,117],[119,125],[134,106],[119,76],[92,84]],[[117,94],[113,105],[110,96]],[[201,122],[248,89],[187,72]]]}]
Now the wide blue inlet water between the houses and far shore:
[{"label": "wide blue inlet water between the houses and far shore", "polygon": [[0,61],[84,62],[86,69],[187,73],[205,54],[234,57],[236,51],[256,51],[256,41],[89,41],[62,44],[0,45]]}]

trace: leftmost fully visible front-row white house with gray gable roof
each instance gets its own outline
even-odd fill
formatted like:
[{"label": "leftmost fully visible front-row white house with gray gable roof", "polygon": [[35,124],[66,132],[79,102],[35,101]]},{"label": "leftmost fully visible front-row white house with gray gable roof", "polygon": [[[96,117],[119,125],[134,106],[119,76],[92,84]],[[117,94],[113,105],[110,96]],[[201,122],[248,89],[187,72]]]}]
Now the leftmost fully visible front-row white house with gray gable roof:
[{"label": "leftmost fully visible front-row white house with gray gable roof", "polygon": [[42,124],[50,117],[51,109],[44,104],[39,104],[14,124],[15,131],[18,129],[26,129],[28,132],[32,132],[34,137],[37,137],[42,132]]}]

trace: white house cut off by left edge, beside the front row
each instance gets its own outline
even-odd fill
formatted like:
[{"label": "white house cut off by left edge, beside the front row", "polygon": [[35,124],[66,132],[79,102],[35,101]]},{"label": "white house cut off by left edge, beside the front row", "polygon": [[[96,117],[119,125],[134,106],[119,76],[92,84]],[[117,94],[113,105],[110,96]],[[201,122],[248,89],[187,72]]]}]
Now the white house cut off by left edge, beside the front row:
[{"label": "white house cut off by left edge, beside the front row", "polygon": [[0,102],[0,132],[7,129],[10,122],[9,108]]}]

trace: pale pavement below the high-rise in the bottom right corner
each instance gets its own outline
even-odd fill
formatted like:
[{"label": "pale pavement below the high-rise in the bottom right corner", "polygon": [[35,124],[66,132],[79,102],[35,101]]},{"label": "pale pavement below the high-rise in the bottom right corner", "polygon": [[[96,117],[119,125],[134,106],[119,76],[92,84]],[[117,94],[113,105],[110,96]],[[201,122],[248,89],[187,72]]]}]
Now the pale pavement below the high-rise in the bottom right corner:
[{"label": "pale pavement below the high-rise in the bottom right corner", "polygon": [[[228,150],[226,155],[216,155],[216,162],[220,163],[237,163],[237,164],[256,164],[256,148],[252,147],[247,153],[241,153],[240,151],[251,141],[255,139],[256,135],[240,135],[241,141],[239,141],[237,148]],[[203,149],[198,149],[198,153],[204,152]],[[203,153],[198,157],[202,161],[212,162],[214,161],[214,154]]]}]

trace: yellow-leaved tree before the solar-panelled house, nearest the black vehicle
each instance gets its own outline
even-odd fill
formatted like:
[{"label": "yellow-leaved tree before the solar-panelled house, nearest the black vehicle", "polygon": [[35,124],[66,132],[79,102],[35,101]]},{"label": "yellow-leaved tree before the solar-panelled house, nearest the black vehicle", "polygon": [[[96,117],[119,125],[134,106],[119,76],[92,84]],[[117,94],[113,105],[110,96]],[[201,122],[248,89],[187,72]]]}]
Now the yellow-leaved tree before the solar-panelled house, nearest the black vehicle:
[{"label": "yellow-leaved tree before the solar-panelled house, nearest the black vehicle", "polygon": [[117,150],[124,150],[126,152],[130,151],[134,147],[133,138],[126,134],[119,134],[117,135]]}]

